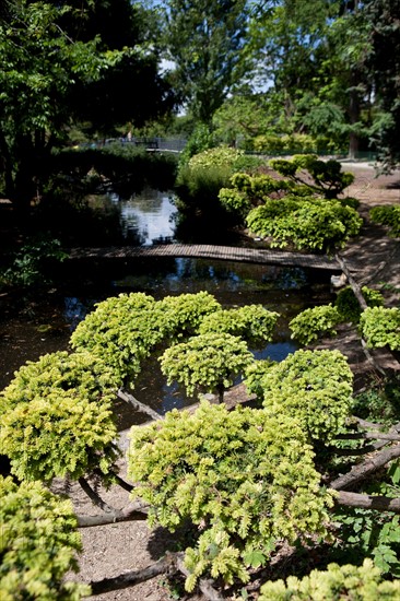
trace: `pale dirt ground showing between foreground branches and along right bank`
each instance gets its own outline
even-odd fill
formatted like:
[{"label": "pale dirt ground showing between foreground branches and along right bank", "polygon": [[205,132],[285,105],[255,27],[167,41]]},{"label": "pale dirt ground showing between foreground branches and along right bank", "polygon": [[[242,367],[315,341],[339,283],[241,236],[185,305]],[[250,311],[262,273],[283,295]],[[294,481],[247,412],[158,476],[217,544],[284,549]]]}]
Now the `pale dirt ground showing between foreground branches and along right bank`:
[{"label": "pale dirt ground showing between foreground branches and along right bank", "polygon": [[[391,176],[375,178],[372,167],[358,164],[344,164],[345,170],[356,175],[355,182],[349,190],[349,196],[361,200],[361,212],[367,219],[368,209],[376,204],[400,203],[400,172]],[[361,236],[342,255],[344,258],[357,261],[363,266],[362,279],[368,279],[368,285],[381,287],[388,306],[399,304],[399,240],[388,238],[384,228],[373,226],[367,221]],[[349,356],[356,375],[356,385],[360,387],[365,379],[373,376],[370,366],[360,347],[356,338],[350,329],[343,328],[334,341],[323,341],[319,347],[341,350]],[[391,362],[390,357],[385,361]],[[243,390],[238,389],[237,394]],[[123,469],[123,467],[122,467]],[[58,483],[58,490],[66,490]],[[97,510],[77,485],[69,490],[77,512],[93,515]],[[128,493],[113,490],[106,493],[107,500],[117,508],[128,503]],[[152,532],[144,522],[123,522],[82,530],[84,552],[80,557],[80,580],[97,580],[104,577],[117,576],[123,570],[142,568],[163,555],[174,535],[161,529]],[[163,578],[139,585],[131,589],[109,592],[95,598],[98,601],[166,601],[173,599],[172,592],[163,586]],[[176,597],[175,597],[176,598]],[[190,597],[190,599],[199,599]]]}]

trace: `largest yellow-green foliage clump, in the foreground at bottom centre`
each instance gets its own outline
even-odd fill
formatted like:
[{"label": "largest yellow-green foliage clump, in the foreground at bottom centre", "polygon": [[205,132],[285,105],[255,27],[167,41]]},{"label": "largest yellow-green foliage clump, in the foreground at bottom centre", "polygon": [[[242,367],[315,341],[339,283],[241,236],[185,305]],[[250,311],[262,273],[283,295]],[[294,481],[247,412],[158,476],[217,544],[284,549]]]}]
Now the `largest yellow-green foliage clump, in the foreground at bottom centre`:
[{"label": "largest yellow-green foliage clump, in the foreground at bottom centre", "polygon": [[198,526],[185,557],[191,591],[207,574],[247,581],[246,568],[266,563],[278,539],[326,534],[332,498],[313,457],[287,415],[202,402],[193,414],[174,410],[162,424],[133,427],[129,475],[151,525]]}]

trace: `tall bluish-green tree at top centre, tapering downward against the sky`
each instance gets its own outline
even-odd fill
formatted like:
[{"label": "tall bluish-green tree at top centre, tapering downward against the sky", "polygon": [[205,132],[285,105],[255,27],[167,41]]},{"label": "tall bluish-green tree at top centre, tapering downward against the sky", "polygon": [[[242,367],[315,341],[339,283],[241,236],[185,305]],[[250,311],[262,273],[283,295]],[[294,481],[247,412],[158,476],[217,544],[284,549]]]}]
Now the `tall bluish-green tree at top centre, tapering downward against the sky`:
[{"label": "tall bluish-green tree at top centre, tapering downward against the sky", "polygon": [[242,75],[246,0],[168,0],[165,44],[172,82],[195,118],[207,125]]}]

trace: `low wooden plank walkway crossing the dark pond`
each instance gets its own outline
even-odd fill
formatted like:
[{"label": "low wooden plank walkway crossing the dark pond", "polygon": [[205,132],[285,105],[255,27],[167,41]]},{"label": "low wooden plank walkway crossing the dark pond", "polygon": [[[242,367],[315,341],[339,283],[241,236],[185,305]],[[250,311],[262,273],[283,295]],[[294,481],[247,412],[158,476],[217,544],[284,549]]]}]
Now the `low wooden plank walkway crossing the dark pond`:
[{"label": "low wooden plank walkway crossing the dark pond", "polygon": [[136,259],[145,257],[185,257],[196,259],[217,259],[223,261],[239,261],[259,264],[277,264],[284,267],[306,267],[341,271],[334,258],[318,255],[302,255],[283,250],[272,251],[259,248],[242,248],[233,246],[167,244],[155,246],[121,246],[108,248],[72,248],[69,251],[71,260],[77,259]]}]

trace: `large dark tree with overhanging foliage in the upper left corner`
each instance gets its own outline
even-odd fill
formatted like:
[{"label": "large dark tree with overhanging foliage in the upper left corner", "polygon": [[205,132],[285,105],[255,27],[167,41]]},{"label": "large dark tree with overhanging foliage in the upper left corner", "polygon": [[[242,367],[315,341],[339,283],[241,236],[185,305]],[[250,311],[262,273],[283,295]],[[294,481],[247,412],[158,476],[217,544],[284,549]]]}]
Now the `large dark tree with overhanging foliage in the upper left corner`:
[{"label": "large dark tree with overhanging foliage in the upper left corner", "polygon": [[166,110],[151,16],[129,0],[2,5],[0,177],[15,207],[40,197],[51,150],[71,125],[86,120],[106,134]]}]

